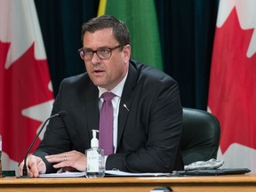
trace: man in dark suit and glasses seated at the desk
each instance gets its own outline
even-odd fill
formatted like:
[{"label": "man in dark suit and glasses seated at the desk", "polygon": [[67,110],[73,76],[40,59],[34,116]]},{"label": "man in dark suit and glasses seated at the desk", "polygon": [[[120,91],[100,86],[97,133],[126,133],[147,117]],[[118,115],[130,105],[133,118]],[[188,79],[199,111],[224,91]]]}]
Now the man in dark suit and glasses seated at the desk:
[{"label": "man in dark suit and glasses seated at the desk", "polygon": [[[182,170],[182,108],[178,84],[164,72],[131,60],[130,34],[121,20],[100,16],[84,23],[79,50],[86,73],[64,79],[52,118],[36,152],[28,156],[28,175],[85,170],[84,151],[99,129],[101,95],[115,94],[114,151],[106,169],[124,172]],[[101,134],[101,137],[104,136]],[[19,166],[20,175],[24,161]]]}]

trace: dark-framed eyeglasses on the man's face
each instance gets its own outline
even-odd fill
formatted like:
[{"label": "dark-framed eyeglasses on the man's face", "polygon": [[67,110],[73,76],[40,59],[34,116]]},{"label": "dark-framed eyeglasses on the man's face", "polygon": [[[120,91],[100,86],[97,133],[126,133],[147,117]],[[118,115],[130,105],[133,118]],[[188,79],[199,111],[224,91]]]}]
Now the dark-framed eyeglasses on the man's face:
[{"label": "dark-framed eyeglasses on the man's face", "polygon": [[85,49],[84,47],[79,49],[78,52],[80,54],[80,57],[82,58],[82,60],[92,60],[93,54],[96,53],[97,56],[101,59],[101,60],[108,60],[111,56],[112,56],[112,51],[122,47],[124,45],[119,44],[113,48],[100,48],[98,50],[90,50],[90,49]]}]

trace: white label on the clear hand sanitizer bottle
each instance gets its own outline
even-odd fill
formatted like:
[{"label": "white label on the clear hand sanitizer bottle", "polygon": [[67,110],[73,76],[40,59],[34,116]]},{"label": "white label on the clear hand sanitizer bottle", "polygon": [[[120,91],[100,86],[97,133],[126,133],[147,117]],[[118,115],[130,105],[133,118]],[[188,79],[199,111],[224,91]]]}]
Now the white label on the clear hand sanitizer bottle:
[{"label": "white label on the clear hand sanitizer bottle", "polygon": [[97,152],[97,150],[87,152],[87,172],[100,171],[99,156],[100,154]]}]

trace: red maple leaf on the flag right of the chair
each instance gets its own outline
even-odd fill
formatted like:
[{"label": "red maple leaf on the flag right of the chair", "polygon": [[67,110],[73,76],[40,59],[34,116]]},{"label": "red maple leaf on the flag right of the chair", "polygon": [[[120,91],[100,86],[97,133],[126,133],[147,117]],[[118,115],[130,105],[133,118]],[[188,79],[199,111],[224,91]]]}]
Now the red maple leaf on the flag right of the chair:
[{"label": "red maple leaf on the flag right of the chair", "polygon": [[256,54],[246,56],[253,29],[242,29],[236,8],[216,28],[209,107],[220,120],[222,153],[232,143],[256,149]]}]

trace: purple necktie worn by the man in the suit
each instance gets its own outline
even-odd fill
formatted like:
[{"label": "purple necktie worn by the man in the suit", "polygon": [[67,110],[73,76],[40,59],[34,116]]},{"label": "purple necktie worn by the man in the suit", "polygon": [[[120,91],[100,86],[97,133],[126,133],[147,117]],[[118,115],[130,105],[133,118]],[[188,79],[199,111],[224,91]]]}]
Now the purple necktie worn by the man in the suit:
[{"label": "purple necktie worn by the man in the suit", "polygon": [[100,148],[104,149],[104,155],[113,154],[113,121],[114,110],[111,100],[115,97],[112,92],[104,92],[101,97],[104,99],[100,110]]}]

